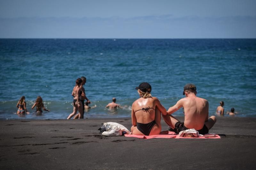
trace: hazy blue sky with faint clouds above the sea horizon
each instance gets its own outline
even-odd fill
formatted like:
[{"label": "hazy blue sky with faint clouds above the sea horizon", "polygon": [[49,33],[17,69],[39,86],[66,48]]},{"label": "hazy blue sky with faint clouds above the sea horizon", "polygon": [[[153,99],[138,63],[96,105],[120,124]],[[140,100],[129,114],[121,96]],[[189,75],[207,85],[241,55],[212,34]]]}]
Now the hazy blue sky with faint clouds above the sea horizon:
[{"label": "hazy blue sky with faint clouds above the sea horizon", "polygon": [[256,38],[255,0],[0,0],[0,38]]}]

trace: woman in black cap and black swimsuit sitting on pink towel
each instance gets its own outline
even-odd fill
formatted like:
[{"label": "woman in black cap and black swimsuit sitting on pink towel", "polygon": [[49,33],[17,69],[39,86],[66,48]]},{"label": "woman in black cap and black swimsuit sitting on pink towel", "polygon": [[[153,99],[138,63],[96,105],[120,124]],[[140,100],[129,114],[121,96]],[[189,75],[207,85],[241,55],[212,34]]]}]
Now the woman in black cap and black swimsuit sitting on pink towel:
[{"label": "woman in black cap and black swimsuit sitting on pink towel", "polygon": [[132,104],[132,134],[159,135],[161,113],[166,115],[166,109],[156,97],[151,97],[151,86],[148,83],[143,82],[135,89],[138,90],[140,98]]}]

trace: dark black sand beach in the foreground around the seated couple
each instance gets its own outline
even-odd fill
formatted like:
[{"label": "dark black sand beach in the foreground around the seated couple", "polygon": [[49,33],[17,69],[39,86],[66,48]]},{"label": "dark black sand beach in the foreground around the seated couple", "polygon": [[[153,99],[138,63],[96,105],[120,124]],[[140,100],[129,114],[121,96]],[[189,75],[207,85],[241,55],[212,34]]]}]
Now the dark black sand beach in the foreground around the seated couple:
[{"label": "dark black sand beach in the foreground around the seated couple", "polygon": [[256,118],[218,117],[210,133],[221,139],[105,137],[103,122],[131,126],[130,118],[0,121],[0,169],[256,168]]}]

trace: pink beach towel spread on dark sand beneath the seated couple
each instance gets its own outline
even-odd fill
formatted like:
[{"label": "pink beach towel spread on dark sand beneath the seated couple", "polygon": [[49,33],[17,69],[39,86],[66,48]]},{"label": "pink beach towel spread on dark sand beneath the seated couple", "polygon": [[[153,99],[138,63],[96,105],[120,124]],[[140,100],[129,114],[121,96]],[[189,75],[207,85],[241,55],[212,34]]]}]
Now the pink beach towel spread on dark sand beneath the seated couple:
[{"label": "pink beach towel spread on dark sand beneath the seated couple", "polygon": [[137,137],[137,138],[140,138],[140,139],[152,139],[152,138],[220,139],[219,135],[216,135],[215,137],[179,137],[179,135],[177,135],[175,132],[171,132],[171,131],[168,131],[168,130],[162,131],[159,135],[146,136],[146,135],[129,135],[129,134],[124,134],[124,136],[125,137]]}]

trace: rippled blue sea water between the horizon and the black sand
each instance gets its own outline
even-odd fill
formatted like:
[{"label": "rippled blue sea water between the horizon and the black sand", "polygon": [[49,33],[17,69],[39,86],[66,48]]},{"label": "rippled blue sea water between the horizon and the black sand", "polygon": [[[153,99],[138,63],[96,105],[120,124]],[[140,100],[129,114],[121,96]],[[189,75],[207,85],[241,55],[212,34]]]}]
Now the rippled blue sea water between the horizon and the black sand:
[{"label": "rippled blue sea water between the horizon and the black sand", "polygon": [[[166,109],[193,83],[209,115],[223,100],[225,112],[256,116],[256,39],[0,39],[0,60],[0,119],[66,119],[81,76],[97,106],[87,118],[129,117],[139,98],[134,88],[145,81]],[[30,114],[19,117],[22,95]],[[50,109],[40,116],[31,109],[38,95]],[[114,114],[105,109],[113,97],[125,106]]]}]

